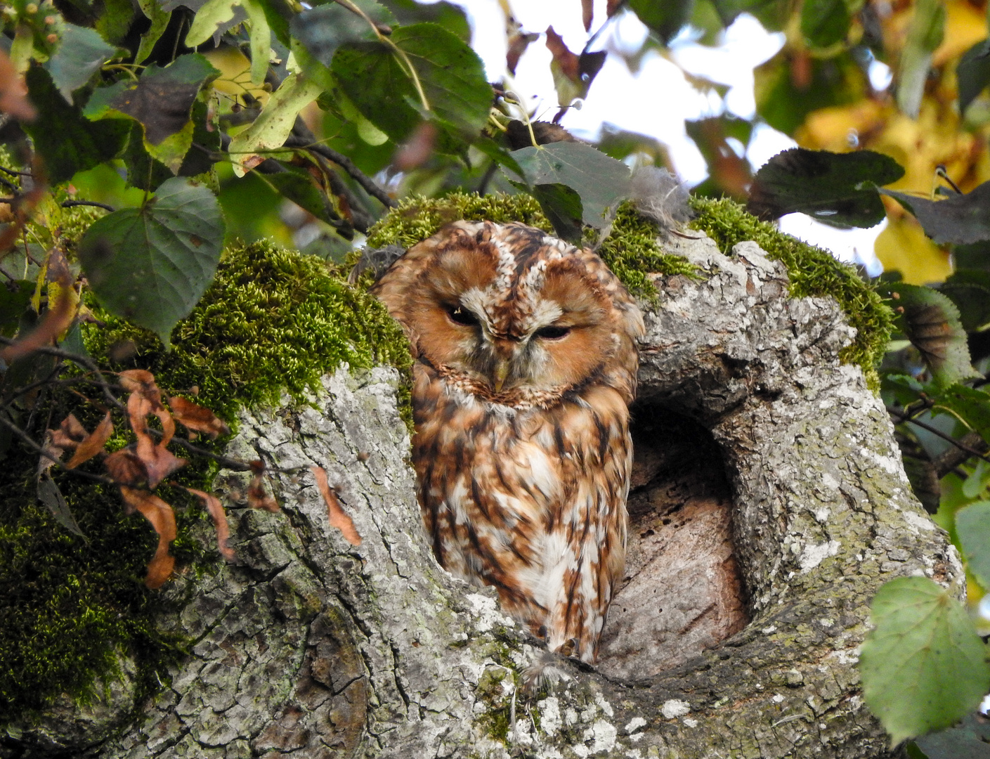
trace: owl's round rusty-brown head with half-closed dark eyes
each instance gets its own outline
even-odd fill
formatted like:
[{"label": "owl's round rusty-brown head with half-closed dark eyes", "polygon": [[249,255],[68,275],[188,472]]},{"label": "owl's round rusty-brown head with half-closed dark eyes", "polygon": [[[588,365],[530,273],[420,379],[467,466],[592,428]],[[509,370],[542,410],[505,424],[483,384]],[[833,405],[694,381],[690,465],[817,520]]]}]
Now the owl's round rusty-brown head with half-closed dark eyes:
[{"label": "owl's round rusty-brown head with half-closed dark eyes", "polygon": [[374,292],[420,359],[489,398],[596,380],[635,388],[636,302],[597,255],[541,230],[455,222],[411,247]]}]

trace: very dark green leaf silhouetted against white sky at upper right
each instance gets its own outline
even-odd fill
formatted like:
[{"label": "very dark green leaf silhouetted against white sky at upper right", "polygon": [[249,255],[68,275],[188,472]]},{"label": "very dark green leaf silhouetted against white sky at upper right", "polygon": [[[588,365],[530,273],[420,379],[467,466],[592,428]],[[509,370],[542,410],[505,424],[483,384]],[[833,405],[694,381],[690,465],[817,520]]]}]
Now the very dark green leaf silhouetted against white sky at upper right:
[{"label": "very dark green leaf silhouetted against white sky at upper right", "polygon": [[896,160],[872,150],[792,147],[756,172],[746,211],[764,222],[797,212],[835,227],[873,227],[887,216],[874,185],[902,176]]}]

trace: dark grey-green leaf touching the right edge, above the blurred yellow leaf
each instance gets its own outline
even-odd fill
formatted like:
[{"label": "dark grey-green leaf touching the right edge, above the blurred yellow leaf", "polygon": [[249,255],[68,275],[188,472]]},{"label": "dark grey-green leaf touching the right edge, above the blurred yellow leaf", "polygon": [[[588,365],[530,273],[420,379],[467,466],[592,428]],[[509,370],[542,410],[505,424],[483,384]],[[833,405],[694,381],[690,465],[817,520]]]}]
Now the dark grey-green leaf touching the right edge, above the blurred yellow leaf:
[{"label": "dark grey-green leaf touching the right edge, above the blurred yellow leaf", "polygon": [[990,239],[990,182],[978,185],[971,192],[939,201],[895,190],[880,192],[895,198],[914,214],[925,234],[939,244],[967,245]]}]

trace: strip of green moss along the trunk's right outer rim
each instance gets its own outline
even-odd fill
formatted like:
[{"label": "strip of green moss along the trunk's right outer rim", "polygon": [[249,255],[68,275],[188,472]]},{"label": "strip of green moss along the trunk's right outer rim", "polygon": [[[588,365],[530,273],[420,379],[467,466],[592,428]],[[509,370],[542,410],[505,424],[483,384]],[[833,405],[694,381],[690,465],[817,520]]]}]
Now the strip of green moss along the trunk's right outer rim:
[{"label": "strip of green moss along the trunk's right outer rim", "polygon": [[787,267],[792,296],[832,296],[839,301],[849,324],[856,329],[855,339],[842,348],[840,358],[843,363],[862,367],[870,388],[879,389],[876,367],[887,347],[893,312],[852,266],[837,261],[828,250],[758,221],[735,201],[692,197],[691,204],[698,212],[691,227],[712,237],[723,253],[730,255],[737,242],[751,239],[766,251],[768,258]]}]

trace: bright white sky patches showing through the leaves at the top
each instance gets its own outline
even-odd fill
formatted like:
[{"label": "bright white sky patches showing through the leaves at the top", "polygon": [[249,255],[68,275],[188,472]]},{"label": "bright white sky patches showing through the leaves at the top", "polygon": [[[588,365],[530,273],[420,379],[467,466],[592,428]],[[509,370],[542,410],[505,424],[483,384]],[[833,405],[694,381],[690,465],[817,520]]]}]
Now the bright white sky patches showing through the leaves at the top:
[{"label": "bright white sky patches showing through the leaves at the top", "polygon": [[[581,23],[577,0],[503,0],[527,32],[545,32],[552,26],[567,47],[579,52],[588,40]],[[505,14],[499,0],[454,0],[467,12],[471,22],[471,46],[485,63],[490,80],[506,74]],[[605,0],[595,0],[592,31],[605,21]],[[646,29],[631,12],[613,19],[599,36],[594,49],[639,49]],[[580,110],[571,109],[561,125],[578,137],[594,140],[602,124],[638,132],[663,142],[674,168],[688,185],[707,177],[705,161],[697,146],[684,130],[686,119],[717,116],[728,112],[744,119],[755,114],[752,69],[774,55],[783,46],[783,35],[767,33],[751,16],[743,15],[728,29],[718,47],[695,43],[696,36],[680,35],[670,46],[669,59],[656,51],[646,53],[637,74],[632,74],[618,55],[609,55],[598,73]],[[551,56],[541,38],[523,55],[512,82],[515,92],[535,109],[537,117],[549,120],[557,111],[556,93],[550,76]],[[882,64],[871,70],[874,84],[886,72]],[[716,93],[699,92],[684,78],[684,72],[725,84],[725,98]],[[753,168],[759,168],[780,150],[795,142],[767,127],[757,126],[746,150]],[[742,145],[739,145],[742,148]],[[870,273],[877,274],[880,264],[873,255],[873,240],[886,223],[871,230],[840,231],[827,227],[803,214],[791,214],[780,227],[800,237],[833,250],[842,260],[858,260]]]}]

